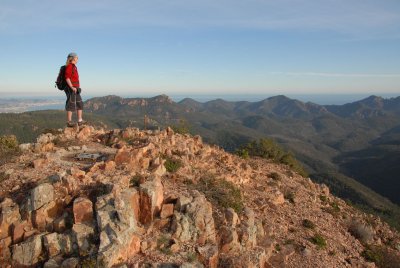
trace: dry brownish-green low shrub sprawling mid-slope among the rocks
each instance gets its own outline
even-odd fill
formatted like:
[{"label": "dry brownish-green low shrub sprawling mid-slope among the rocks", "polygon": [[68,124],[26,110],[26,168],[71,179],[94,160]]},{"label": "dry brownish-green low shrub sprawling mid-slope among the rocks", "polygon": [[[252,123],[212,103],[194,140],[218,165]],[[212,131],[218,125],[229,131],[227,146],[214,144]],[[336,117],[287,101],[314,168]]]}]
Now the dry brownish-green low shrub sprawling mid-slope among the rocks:
[{"label": "dry brownish-green low shrub sprawling mid-slope among the rocks", "polygon": [[191,187],[203,192],[208,200],[218,206],[233,208],[237,213],[243,209],[242,193],[232,182],[215,178],[212,174],[206,174]]}]

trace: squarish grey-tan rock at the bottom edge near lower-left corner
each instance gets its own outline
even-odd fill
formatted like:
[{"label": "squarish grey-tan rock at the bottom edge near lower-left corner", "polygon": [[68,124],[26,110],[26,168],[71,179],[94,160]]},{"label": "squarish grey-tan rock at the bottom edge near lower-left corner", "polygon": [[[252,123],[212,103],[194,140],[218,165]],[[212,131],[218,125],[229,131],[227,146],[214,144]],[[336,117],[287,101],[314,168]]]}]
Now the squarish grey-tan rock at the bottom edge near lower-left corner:
[{"label": "squarish grey-tan rock at the bottom edge near lower-left corner", "polygon": [[42,254],[42,236],[36,235],[12,246],[12,259],[15,265],[32,266],[39,262]]}]

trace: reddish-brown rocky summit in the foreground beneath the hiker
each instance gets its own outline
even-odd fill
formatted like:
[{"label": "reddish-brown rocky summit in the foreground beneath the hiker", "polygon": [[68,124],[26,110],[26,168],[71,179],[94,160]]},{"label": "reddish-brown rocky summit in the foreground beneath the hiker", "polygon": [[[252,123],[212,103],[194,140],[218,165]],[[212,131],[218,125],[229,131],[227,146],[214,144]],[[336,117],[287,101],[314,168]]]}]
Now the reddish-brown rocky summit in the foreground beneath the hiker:
[{"label": "reddish-brown rocky summit in the foreground beneath the hiker", "polygon": [[20,150],[0,167],[0,267],[399,267],[379,218],[200,136],[86,126]]}]

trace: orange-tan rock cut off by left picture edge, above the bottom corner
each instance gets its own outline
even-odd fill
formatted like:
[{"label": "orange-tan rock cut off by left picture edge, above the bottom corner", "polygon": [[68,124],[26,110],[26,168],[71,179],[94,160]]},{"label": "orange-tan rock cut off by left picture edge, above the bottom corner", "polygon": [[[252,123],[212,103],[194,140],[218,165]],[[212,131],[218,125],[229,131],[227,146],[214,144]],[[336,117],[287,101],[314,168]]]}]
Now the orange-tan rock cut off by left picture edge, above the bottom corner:
[{"label": "orange-tan rock cut off by left picture edge, above the bottom corner", "polygon": [[21,220],[19,207],[11,199],[6,198],[0,205],[0,239],[11,235],[11,225]]}]

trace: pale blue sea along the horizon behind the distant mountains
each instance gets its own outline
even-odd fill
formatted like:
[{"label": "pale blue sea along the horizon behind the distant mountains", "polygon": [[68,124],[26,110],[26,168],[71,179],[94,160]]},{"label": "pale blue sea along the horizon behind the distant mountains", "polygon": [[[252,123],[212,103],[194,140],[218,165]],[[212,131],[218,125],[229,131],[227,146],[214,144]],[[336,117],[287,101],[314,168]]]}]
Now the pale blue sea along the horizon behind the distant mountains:
[{"label": "pale blue sea along the horizon behind the distant mountains", "polygon": [[[158,94],[140,94],[138,92],[136,95],[131,94],[121,94],[120,97],[123,98],[149,98],[157,96]],[[351,103],[365,99],[371,95],[380,96],[383,98],[393,98],[400,96],[399,94],[282,94],[291,99],[297,99],[302,102],[313,102],[319,105],[342,105],[346,103]],[[104,95],[102,95],[104,96]],[[226,101],[249,101],[256,102],[267,99],[269,97],[277,96],[277,94],[170,94],[168,95],[173,101],[179,102],[184,98],[192,98],[199,102],[207,102],[215,99],[223,99]],[[84,100],[99,97],[99,96],[82,96]],[[0,98],[0,112],[4,112],[4,108],[10,107],[10,102],[15,106],[18,104],[23,105],[23,109],[16,112],[26,112],[26,111],[37,111],[37,110],[60,110],[64,109],[65,97],[60,96],[7,96]],[[47,102],[47,104],[46,104]],[[27,105],[28,104],[28,105]],[[13,105],[13,106],[14,106]],[[13,111],[9,111],[13,112]]]}]

